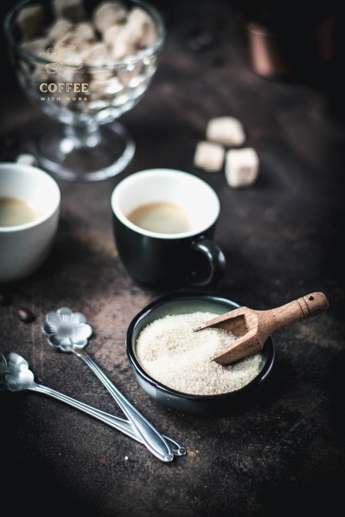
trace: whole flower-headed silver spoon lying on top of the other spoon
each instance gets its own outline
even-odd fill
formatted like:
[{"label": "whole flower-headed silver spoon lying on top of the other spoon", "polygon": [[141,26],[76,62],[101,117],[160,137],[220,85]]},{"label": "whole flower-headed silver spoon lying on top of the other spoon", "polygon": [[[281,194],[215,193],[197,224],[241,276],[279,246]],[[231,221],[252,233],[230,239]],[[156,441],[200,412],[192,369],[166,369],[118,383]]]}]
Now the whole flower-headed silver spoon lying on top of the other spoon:
[{"label": "whole flower-headed silver spoon lying on top of the other spoon", "polygon": [[[85,316],[80,312],[73,313],[68,307],[62,307],[56,312],[49,312],[46,316],[46,323],[43,326],[43,333],[48,338],[48,343],[69,352],[82,359],[87,366],[99,378],[107,388],[113,399],[123,410],[133,430],[141,438],[143,444],[161,461],[170,462],[174,455],[167,440],[149,422],[138,409],[134,407],[116,386],[110,381],[106,374],[97,366],[95,361],[83,350],[87,345],[87,338],[92,334],[92,328],[87,325]],[[78,349],[78,352],[77,352]]]}]

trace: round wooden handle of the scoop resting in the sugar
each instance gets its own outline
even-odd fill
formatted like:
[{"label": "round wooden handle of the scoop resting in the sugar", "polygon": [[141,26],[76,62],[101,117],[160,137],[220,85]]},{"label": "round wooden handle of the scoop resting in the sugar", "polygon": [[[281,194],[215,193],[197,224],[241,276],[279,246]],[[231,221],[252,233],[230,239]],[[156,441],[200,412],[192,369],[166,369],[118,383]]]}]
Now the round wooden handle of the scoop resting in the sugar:
[{"label": "round wooden handle of the scoop resting in the sugar", "polygon": [[276,309],[264,311],[265,320],[271,327],[269,332],[274,332],[281,327],[317,316],[327,308],[328,300],[323,293],[311,293]]}]

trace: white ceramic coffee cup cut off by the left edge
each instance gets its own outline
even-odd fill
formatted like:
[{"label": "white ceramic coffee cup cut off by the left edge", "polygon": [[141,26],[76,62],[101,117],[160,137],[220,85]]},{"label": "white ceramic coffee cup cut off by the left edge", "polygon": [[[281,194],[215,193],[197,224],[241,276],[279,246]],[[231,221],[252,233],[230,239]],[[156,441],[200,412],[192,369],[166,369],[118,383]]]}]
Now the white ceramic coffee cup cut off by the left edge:
[{"label": "white ceramic coffee cup cut off by the left edge", "polygon": [[40,212],[32,222],[0,226],[0,282],[12,282],[30,275],[48,256],[61,194],[56,181],[37,167],[1,163],[0,197],[16,197]]}]

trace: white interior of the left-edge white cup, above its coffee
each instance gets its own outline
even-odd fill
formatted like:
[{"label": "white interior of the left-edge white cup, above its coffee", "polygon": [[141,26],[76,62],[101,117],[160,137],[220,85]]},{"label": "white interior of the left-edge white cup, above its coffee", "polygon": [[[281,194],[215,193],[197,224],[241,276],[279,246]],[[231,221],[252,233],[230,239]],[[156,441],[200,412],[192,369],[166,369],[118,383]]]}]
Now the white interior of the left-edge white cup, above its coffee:
[{"label": "white interior of the left-edge white cup, above its coffee", "polygon": [[0,232],[24,230],[48,219],[57,209],[61,194],[56,181],[32,165],[0,164],[0,197],[16,197],[39,212],[32,222],[18,226],[0,226]]}]

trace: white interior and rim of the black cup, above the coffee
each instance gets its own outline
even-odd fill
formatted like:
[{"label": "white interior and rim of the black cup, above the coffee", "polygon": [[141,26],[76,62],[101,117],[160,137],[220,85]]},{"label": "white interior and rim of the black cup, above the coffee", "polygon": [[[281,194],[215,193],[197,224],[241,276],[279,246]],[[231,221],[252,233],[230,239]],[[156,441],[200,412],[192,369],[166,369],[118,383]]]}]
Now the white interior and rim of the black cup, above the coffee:
[{"label": "white interior and rim of the black cup, above the coffee", "polygon": [[[175,203],[187,212],[191,230],[164,234],[144,230],[127,216],[141,205],[155,202]],[[172,169],[151,169],[123,179],[111,196],[115,216],[132,230],[149,237],[173,239],[207,230],[218,218],[220,203],[215,191],[197,176]]]}]

